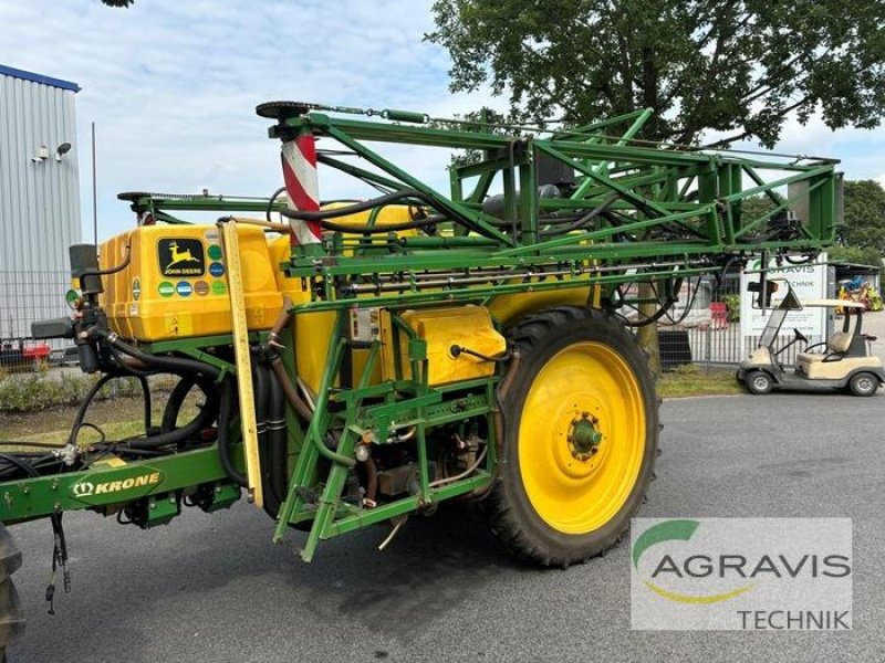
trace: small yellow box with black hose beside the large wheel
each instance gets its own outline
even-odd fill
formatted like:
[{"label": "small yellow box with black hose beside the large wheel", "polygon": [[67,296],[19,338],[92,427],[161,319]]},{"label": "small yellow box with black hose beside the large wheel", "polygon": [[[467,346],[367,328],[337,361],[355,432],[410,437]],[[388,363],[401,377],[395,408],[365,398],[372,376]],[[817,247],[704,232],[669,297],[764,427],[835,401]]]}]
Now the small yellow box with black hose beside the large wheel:
[{"label": "small yellow box with black hose beside the large wheel", "polygon": [[[494,373],[493,361],[465,352],[455,356],[452,346],[468,348],[487,357],[500,355],[507,349],[507,340],[494,329],[485,306],[406,311],[400,318],[415,330],[418,338],[427,343],[427,381],[431,387],[487,378]],[[396,378],[393,334],[399,334],[400,364],[404,377],[409,379],[408,338],[403,332],[392,328],[389,323],[382,325],[384,379]]]}]

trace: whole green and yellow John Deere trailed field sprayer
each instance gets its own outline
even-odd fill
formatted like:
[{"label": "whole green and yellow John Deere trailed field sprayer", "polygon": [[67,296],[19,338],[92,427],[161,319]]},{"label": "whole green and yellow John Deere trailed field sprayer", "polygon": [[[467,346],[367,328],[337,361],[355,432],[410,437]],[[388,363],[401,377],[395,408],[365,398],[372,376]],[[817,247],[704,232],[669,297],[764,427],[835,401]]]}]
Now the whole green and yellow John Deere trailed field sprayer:
[{"label": "whole green and yellow John Deere trailed field sprayer", "polygon": [[[321,540],[395,532],[449,499],[477,501],[531,562],[598,555],[624,535],[657,451],[654,378],[628,325],[753,254],[814,256],[839,215],[834,161],[642,144],[645,110],[561,131],[287,102],[258,113],[282,141],[278,194],[122,194],[137,227],[72,246],[74,313],[34,324],[102,376],[66,441],[0,455],[0,520],[49,518],[65,573],[67,511],[149,528],[243,492],[274,541],[306,533],[305,561]],[[375,144],[471,158],[444,196]],[[319,166],[381,194],[321,203]],[[760,194],[773,209],[742,214]],[[200,210],[221,218],[184,222]],[[238,217],[250,211],[267,214]],[[628,295],[637,283],[653,296]],[[646,315],[628,322],[623,306]],[[157,425],[79,442],[101,385],[153,373],[178,379]],[[201,407],[181,423],[191,391]],[[0,528],[6,644],[21,555]]]}]

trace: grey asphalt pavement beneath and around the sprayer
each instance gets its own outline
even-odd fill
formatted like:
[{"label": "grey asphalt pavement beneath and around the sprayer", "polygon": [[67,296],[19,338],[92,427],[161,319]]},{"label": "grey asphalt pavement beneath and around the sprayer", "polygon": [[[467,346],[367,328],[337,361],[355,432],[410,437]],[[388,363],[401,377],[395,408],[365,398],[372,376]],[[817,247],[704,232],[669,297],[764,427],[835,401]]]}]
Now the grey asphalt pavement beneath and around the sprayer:
[{"label": "grey asphalt pavement beneath and around the sprayer", "polygon": [[643,516],[851,517],[850,632],[639,632],[627,547],[568,570],[500,554],[469,508],[374,527],[294,555],[240,503],[142,532],[69,514],[73,593],[43,601],[46,522],[13,527],[29,614],[12,663],[885,660],[885,396],[773,393],[667,401]]}]

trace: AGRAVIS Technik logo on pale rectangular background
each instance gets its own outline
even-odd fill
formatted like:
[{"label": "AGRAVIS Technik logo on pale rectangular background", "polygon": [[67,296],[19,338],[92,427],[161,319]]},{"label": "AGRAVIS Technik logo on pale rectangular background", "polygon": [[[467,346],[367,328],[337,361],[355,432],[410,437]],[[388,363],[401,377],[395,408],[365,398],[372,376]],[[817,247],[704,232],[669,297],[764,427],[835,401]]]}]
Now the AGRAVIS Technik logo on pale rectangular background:
[{"label": "AGRAVIS Technik logo on pale rectangular background", "polygon": [[634,629],[851,628],[847,518],[637,518]]}]

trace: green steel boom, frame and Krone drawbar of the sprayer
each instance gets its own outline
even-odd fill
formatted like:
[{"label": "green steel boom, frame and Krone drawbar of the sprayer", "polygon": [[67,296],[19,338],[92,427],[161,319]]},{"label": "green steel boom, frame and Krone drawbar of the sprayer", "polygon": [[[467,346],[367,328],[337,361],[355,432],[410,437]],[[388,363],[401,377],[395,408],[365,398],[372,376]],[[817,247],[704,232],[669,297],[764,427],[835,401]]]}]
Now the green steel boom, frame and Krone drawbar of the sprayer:
[{"label": "green steel boom, frame and Krone drawbar of the sprayer", "polygon": [[[285,141],[310,133],[322,139],[321,148],[334,143],[335,151],[321,149],[322,166],[383,190],[417,191],[420,200],[406,202],[420,204],[438,219],[434,232],[408,236],[330,232],[319,246],[293,246],[291,259],[280,265],[311,292],[310,301],[290,313],[333,311],[336,317],[313,419],[303,425],[291,408],[287,412],[291,472],[274,540],[290,526],[309,525],[302,551],[305,560],[322,539],[430,511],[451,497],[479,494],[494,476],[500,443],[497,390],[506,364],[487,379],[430,387],[426,345],[399,317],[404,309],[488,304],[503,295],[575,287],[590,294],[596,285],[614,301],[620,286],[637,281],[657,282],[671,291],[680,278],[720,270],[753,253],[813,253],[832,242],[839,222],[841,176],[835,161],[740,158],[637,146],[633,139],[649,117],[648,110],[570,130],[540,131],[481,124],[440,128],[440,120],[430,123],[424,114],[398,110],[293,104],[259,109],[277,119],[271,137]],[[316,110],[381,115],[387,122],[333,117]],[[450,191],[444,196],[368,147],[376,143],[465,149],[472,158],[451,166]],[[340,148],[362,165],[339,158]],[[364,167],[366,164],[369,167]],[[544,172],[551,165],[574,172],[573,181],[559,187],[555,197],[539,193],[539,186],[549,183]],[[498,215],[483,211],[483,200],[492,190],[503,194]],[[767,196],[773,209],[748,218],[741,202],[759,194]],[[136,212],[149,212],[155,220],[169,223],[187,222],[179,218],[181,212],[285,210],[284,203],[267,199],[149,193],[121,198]],[[795,221],[785,215],[794,209],[803,211]],[[377,211],[373,210],[371,221]],[[397,375],[379,385],[369,383],[379,343],[366,346],[348,337],[347,315],[354,307],[383,308],[392,316],[397,329],[394,343],[407,344],[408,377],[397,347]],[[251,338],[256,345],[264,340],[263,335]],[[145,349],[207,361],[222,375],[232,375],[236,367],[216,350],[230,345],[230,336],[219,336],[169,340]],[[291,338],[285,347],[284,362],[294,381]],[[345,380],[343,367],[357,349],[368,355],[366,368],[358,379]],[[481,423],[482,462],[468,476],[435,481],[429,460],[434,432],[442,425],[470,422]],[[357,445],[398,443],[398,432],[406,429],[415,431],[410,444],[417,491],[375,507],[347,501],[344,490],[356,464]],[[334,449],[326,443],[333,431]],[[238,439],[232,449],[242,467]],[[117,488],[111,490],[115,485]],[[104,488],[96,493],[96,486]],[[14,523],[77,508],[108,514],[122,504],[146,501],[147,508],[156,512],[155,519],[165,522],[176,515],[183,494],[198,490],[217,495],[218,506],[239,496],[215,446],[6,482],[0,484],[0,520]]]}]

